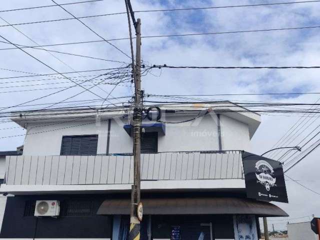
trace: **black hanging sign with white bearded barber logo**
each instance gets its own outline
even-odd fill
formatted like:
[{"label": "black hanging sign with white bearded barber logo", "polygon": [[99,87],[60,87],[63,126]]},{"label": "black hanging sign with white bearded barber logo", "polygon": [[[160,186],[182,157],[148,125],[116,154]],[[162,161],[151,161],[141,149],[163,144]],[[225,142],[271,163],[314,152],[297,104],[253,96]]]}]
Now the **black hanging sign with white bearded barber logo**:
[{"label": "black hanging sign with white bearded barber logo", "polygon": [[257,200],[288,202],[282,164],[242,151],[246,196]]}]

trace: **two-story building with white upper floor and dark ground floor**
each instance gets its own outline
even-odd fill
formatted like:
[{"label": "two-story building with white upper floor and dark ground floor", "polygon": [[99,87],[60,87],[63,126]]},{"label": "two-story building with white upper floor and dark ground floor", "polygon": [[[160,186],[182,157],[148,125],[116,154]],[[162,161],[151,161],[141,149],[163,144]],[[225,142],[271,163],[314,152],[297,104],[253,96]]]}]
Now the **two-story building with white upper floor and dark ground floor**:
[{"label": "two-story building with white upper floor and dark ground floor", "polygon": [[[247,230],[258,232],[258,217],[287,215],[245,194],[241,151],[250,151],[258,114],[227,101],[158,107],[143,114],[141,125],[141,239],[238,239],[235,216],[253,216]],[[7,197],[0,237],[126,239],[131,113],[12,113],[26,136],[23,154],[6,157],[0,191],[14,196]],[[56,200],[59,212],[34,216],[51,207],[46,200]]]}]

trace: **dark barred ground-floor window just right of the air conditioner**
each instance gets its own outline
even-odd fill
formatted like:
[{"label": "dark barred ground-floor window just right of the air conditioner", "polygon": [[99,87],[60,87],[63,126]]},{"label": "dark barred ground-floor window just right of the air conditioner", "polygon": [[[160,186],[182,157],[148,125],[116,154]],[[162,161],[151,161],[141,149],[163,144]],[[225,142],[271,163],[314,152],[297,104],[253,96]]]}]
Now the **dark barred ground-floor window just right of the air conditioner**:
[{"label": "dark barred ground-floor window just right of the air conditioner", "polygon": [[66,200],[61,204],[61,216],[92,216],[91,200]]}]

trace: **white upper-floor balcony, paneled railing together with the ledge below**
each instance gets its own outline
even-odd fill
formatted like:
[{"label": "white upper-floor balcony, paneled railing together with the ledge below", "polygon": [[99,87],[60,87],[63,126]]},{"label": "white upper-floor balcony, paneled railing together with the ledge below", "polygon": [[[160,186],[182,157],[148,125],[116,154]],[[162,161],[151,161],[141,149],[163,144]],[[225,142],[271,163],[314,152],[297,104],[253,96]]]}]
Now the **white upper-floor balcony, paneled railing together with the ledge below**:
[{"label": "white upper-floor balcony, paneled railing together with the ledge below", "polygon": [[[245,188],[241,152],[184,151],[141,154],[142,190]],[[7,156],[1,192],[128,191],[132,154]]]}]

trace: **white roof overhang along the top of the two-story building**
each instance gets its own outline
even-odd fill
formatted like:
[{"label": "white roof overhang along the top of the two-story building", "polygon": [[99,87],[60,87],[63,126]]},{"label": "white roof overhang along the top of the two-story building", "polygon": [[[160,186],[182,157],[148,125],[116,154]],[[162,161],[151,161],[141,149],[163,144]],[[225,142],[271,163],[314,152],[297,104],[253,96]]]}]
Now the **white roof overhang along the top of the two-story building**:
[{"label": "white roof overhang along the top of the two-story building", "polygon": [[[219,113],[241,121],[248,125],[249,136],[253,136],[260,124],[260,115],[239,106],[230,101],[216,102],[194,102],[194,103],[172,103],[159,104],[161,111],[166,112],[168,116],[179,113],[179,115],[197,115],[201,110],[212,109],[211,114]],[[148,107],[148,105],[145,105]],[[36,111],[12,112],[10,119],[22,127],[26,127],[28,122],[61,122],[61,120],[77,120],[77,121],[95,121],[96,118],[105,120],[108,118],[124,118],[129,116],[129,107],[124,108],[70,108],[70,109],[48,109]]]}]

